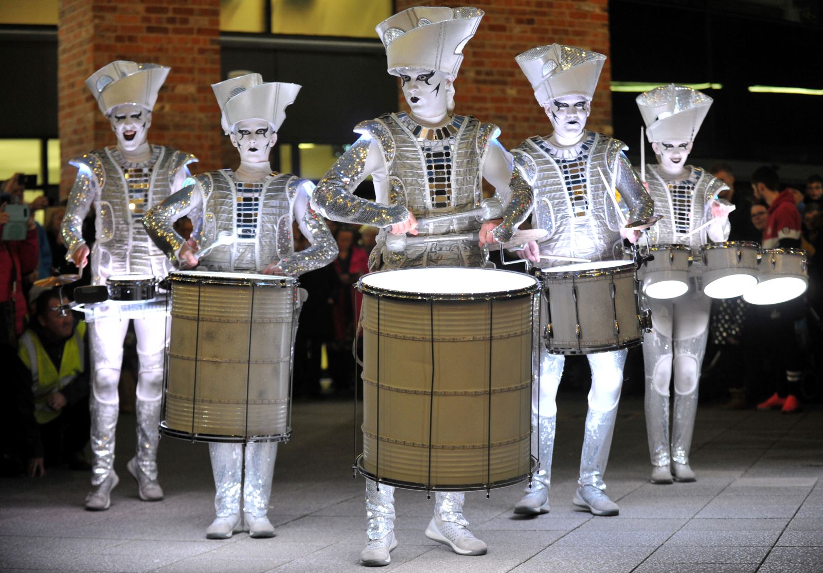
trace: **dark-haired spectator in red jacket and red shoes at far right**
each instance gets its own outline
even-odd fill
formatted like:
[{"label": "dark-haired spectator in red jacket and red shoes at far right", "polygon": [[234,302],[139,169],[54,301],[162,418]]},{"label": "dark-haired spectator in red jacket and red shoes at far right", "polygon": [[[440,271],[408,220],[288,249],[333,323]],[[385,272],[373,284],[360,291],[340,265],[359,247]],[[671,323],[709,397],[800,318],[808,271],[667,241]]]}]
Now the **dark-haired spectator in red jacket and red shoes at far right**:
[{"label": "dark-haired spectator in red jacket and red shoes at far right", "polygon": [[[764,201],[769,206],[769,219],[763,229],[763,248],[800,248],[802,236],[802,219],[794,203],[791,190],[779,192],[780,179],[774,169],[760,167],[751,175],[751,189],[755,199]],[[794,334],[794,322],[802,318],[805,312],[803,298],[796,298],[787,303],[770,305],[769,312],[770,340],[769,349],[776,362],[783,362],[786,379],[780,382],[776,391],[767,400],[757,404],[759,410],[781,409],[783,414],[794,414],[802,409],[797,400],[797,386],[803,369],[803,357]]]}]

